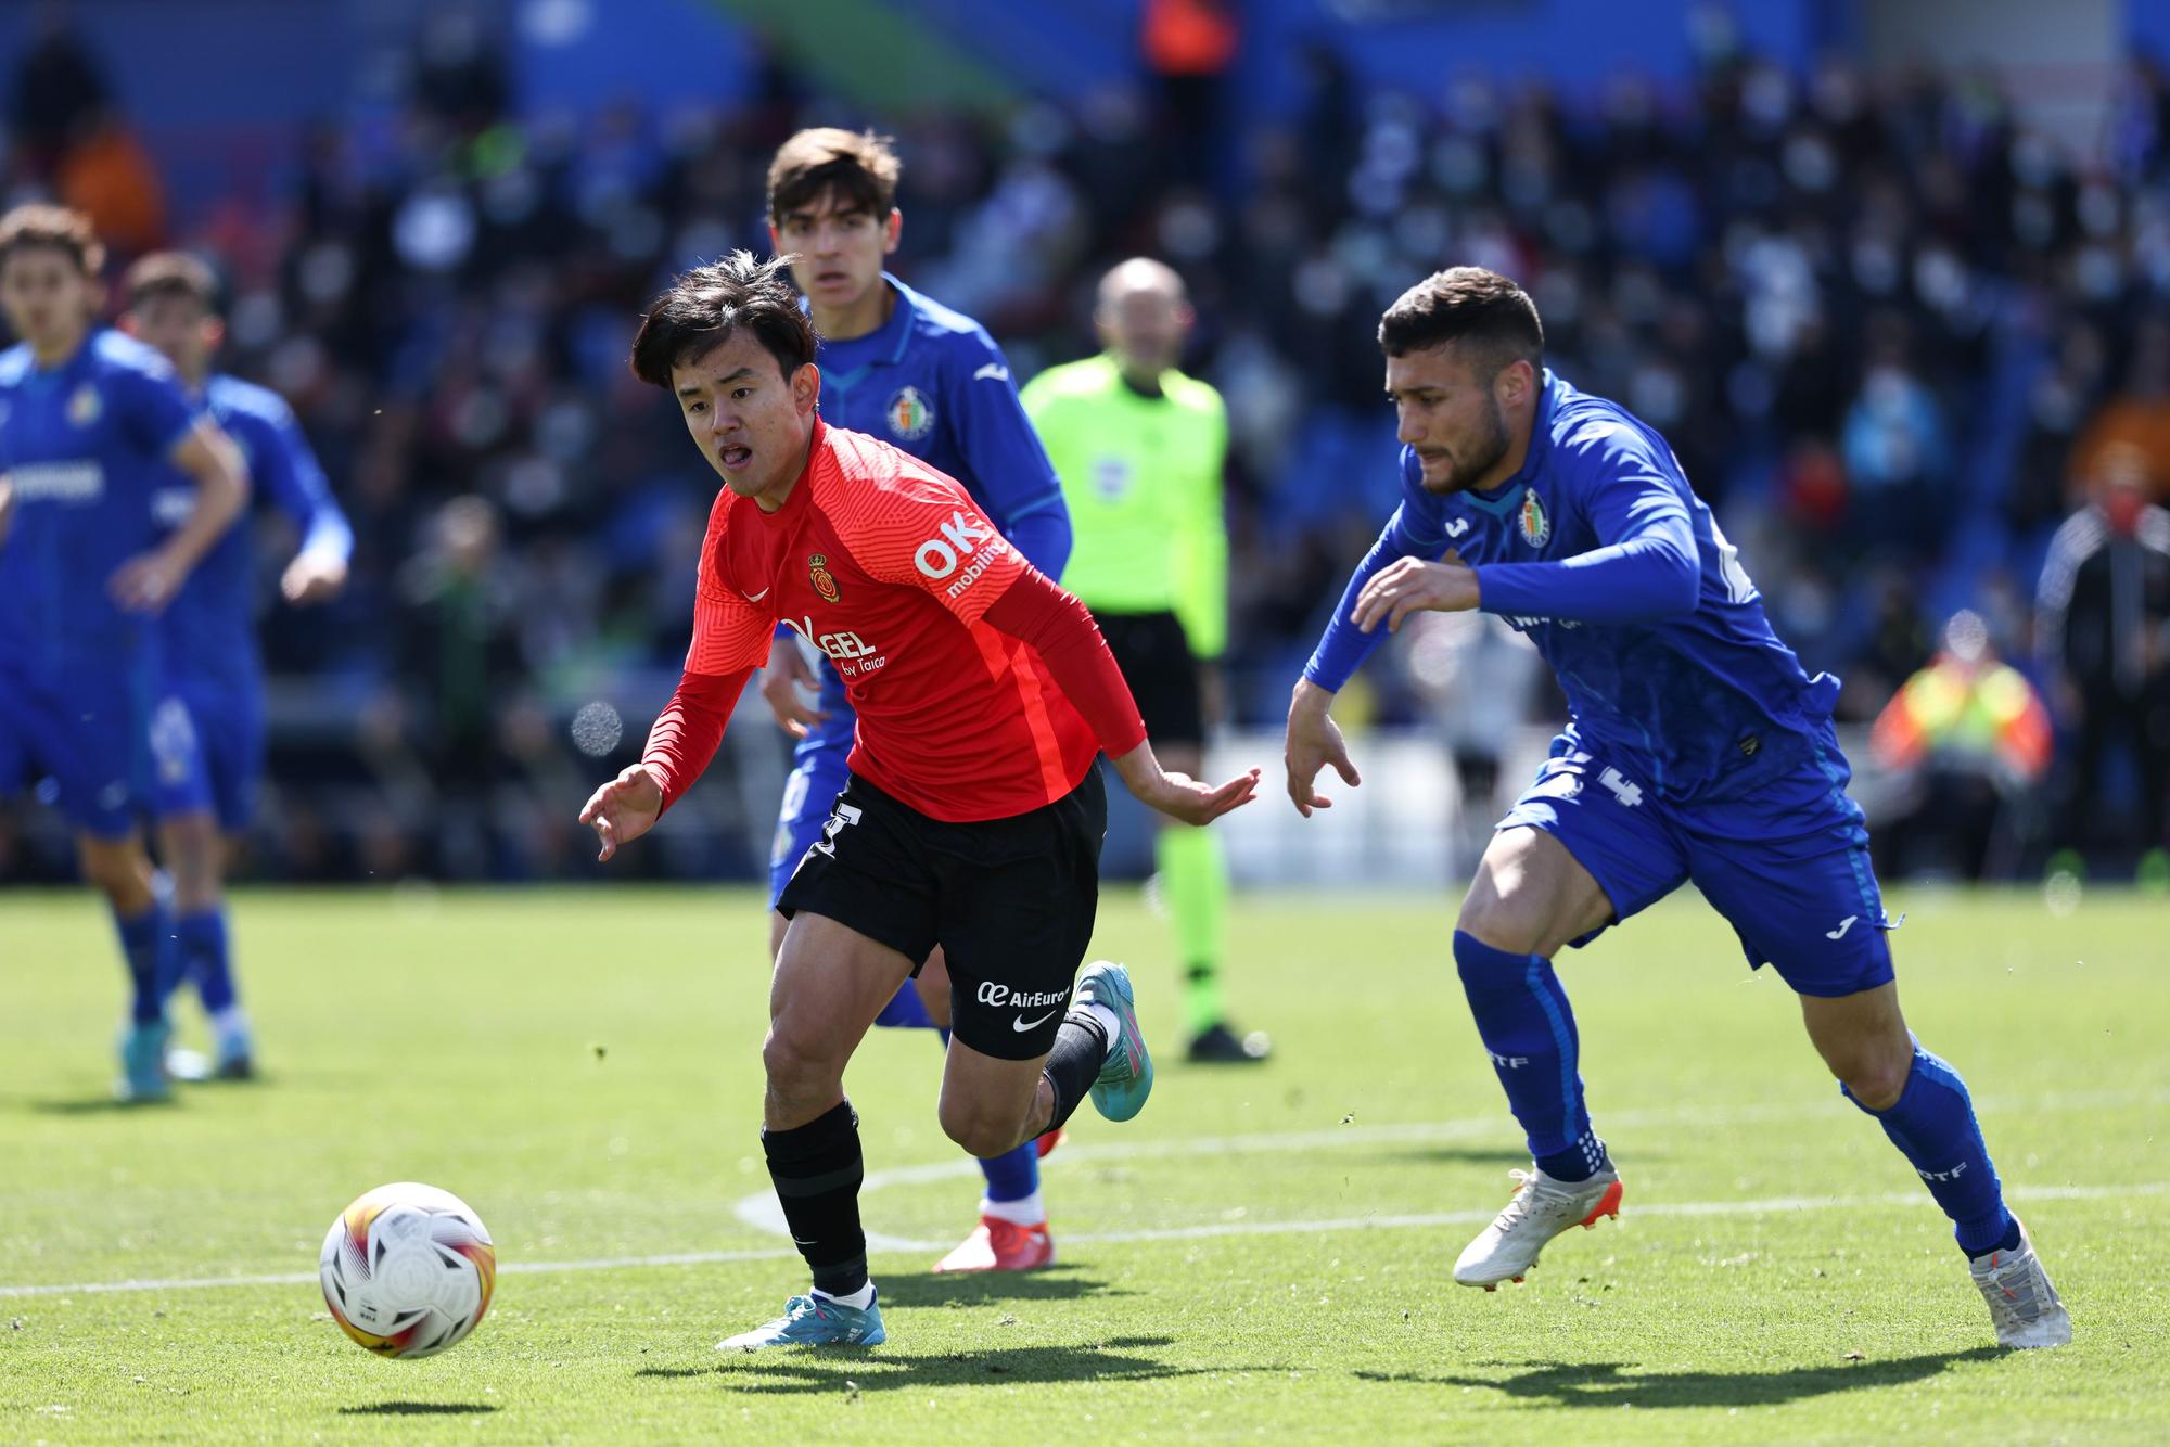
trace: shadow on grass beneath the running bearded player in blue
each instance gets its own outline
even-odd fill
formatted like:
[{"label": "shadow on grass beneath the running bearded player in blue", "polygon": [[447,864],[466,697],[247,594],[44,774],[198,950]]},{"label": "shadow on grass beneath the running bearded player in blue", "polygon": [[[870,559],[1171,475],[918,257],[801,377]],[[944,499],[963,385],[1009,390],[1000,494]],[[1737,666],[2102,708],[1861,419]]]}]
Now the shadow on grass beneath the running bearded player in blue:
[{"label": "shadow on grass beneath the running bearded player in blue", "polygon": [[1421,1382],[1426,1386],[1484,1386],[1508,1397],[1545,1401],[1549,1406],[1775,1406],[1801,1397],[1827,1397],[1862,1386],[1899,1386],[1920,1382],[1957,1362],[1986,1362],[2001,1356],[1996,1347],[1968,1352],[1927,1352],[1888,1362],[1831,1362],[1827,1367],[1792,1367],[1788,1371],[1632,1371],[1634,1362],[1478,1362],[1484,1367],[1521,1367],[1508,1378],[1465,1378],[1428,1371],[1358,1371],[1363,1382]]}]

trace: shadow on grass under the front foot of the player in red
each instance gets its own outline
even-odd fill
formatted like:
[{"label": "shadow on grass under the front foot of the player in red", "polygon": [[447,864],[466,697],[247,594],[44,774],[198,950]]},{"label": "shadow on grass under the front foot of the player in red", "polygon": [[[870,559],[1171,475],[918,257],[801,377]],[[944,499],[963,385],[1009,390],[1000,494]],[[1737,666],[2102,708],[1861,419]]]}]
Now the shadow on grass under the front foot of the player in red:
[{"label": "shadow on grass under the front foot of the player in red", "polygon": [[644,1367],[636,1378],[723,1378],[723,1386],[762,1395],[881,1393],[974,1382],[1152,1382],[1161,1378],[1228,1375],[1250,1367],[1170,1367],[1141,1347],[1167,1347],[1174,1336],[1111,1336],[1081,1347],[992,1347],[944,1356],[898,1358],[864,1349],[816,1347],[799,1352],[718,1354],[714,1367]]}]

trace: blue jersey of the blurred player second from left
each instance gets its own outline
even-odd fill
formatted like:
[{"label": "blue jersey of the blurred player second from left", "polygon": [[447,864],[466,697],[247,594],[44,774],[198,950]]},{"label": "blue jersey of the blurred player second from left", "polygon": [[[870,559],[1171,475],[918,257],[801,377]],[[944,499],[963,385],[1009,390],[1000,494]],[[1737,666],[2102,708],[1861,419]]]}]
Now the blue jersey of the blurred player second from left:
[{"label": "blue jersey of the blurred player second from left", "polygon": [[[302,532],[302,551],[328,551],[345,562],[354,551],[354,532],[332,501],[323,469],[286,401],[241,377],[215,375],[204,386],[204,408],[241,449],[250,497],[265,499],[293,518]],[[156,523],[163,529],[182,527],[195,512],[195,484],[169,471],[152,499]],[[241,521],[204,553],[180,597],[165,610],[165,640],[178,677],[254,677],[254,534]]]}]

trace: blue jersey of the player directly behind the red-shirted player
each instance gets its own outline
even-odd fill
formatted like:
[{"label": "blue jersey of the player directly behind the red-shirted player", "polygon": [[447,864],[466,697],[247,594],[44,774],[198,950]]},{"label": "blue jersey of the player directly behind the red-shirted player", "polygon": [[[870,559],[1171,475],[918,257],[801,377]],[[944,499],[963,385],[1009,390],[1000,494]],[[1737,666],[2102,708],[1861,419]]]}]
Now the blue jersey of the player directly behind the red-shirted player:
[{"label": "blue jersey of the player directly behind the red-shirted player", "polygon": [[1024,560],[1061,577],[1063,484],[1024,417],[1003,349],[963,312],[894,276],[896,310],[866,336],[820,343],[820,414],[879,436],[963,484]]}]

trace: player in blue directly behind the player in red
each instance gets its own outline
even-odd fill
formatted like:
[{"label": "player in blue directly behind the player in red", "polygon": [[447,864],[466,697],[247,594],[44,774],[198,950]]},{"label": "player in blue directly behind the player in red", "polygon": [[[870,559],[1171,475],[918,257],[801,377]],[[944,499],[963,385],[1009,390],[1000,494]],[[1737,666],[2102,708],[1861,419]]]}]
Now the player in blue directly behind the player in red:
[{"label": "player in blue directly behind the player in red", "polygon": [[[833,128],[801,130],[768,167],[768,236],[792,256],[792,280],[820,334],[822,419],[942,469],[1026,562],[1061,577],[1070,512],[1003,349],[983,325],[883,269],[903,230],[896,178],[896,154],[885,139]],[[816,681],[790,633],[777,636],[762,696],[799,740],[768,859],[775,905],[844,790],[855,718],[835,668],[822,666]],[[781,939],[783,915],[770,915],[770,957]],[[916,985],[898,991],[875,1024],[946,1030],[948,974],[940,950]],[[987,1176],[981,1224],[935,1269],[1022,1271],[1052,1263],[1037,1145],[983,1161],[981,1169]]]}]

